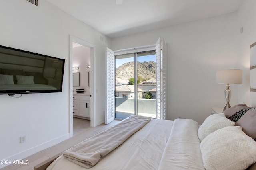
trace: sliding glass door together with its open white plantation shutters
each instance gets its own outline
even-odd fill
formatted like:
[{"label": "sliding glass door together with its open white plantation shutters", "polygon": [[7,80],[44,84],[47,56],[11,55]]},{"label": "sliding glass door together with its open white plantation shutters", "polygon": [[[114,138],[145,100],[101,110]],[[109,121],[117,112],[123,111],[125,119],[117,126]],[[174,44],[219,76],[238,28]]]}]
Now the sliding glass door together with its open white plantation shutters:
[{"label": "sliding glass door together with its open white plantation shutters", "polygon": [[105,123],[130,115],[166,119],[166,44],[106,48]]}]

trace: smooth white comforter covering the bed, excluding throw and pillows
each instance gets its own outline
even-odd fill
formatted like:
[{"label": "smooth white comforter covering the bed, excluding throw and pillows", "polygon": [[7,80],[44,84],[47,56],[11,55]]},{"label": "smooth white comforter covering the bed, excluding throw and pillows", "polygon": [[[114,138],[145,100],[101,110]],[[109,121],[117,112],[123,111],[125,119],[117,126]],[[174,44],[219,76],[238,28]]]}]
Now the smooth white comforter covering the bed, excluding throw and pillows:
[{"label": "smooth white comforter covering the bed, excluding throw and pillows", "polygon": [[[198,123],[152,119],[91,170],[204,170]],[[86,170],[63,156],[47,170]]]}]

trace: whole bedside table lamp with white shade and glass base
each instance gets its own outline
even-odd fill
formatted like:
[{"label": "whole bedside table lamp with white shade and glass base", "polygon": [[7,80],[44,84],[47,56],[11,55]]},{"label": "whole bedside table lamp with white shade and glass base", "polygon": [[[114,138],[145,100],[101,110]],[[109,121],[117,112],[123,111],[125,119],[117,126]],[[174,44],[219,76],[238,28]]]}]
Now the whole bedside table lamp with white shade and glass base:
[{"label": "whole bedside table lamp with white shade and glass base", "polygon": [[216,82],[218,84],[227,84],[225,90],[225,98],[227,101],[223,110],[230,108],[231,90],[229,84],[242,84],[243,83],[243,70],[219,70],[216,73]]}]

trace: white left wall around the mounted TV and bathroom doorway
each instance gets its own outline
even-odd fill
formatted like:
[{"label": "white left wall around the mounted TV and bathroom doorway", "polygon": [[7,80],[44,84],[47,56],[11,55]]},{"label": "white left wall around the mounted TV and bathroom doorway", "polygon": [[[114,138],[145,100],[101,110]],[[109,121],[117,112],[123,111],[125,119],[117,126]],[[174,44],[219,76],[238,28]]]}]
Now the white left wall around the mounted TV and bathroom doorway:
[{"label": "white left wall around the mounted TV and bathroom doorway", "polygon": [[[45,0],[40,0],[40,7],[26,0],[1,0],[0,11],[0,45],[66,60],[61,93],[23,94],[20,98],[0,95],[0,160],[20,160],[69,137],[70,35],[95,46],[97,63],[92,81],[94,100],[100,105],[94,111],[96,125],[103,123],[105,76],[102,73],[105,47],[110,39]],[[100,36],[104,41],[100,41]],[[26,135],[25,143],[20,143],[22,135]]]}]

